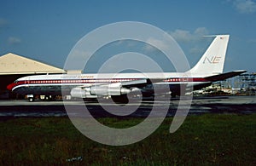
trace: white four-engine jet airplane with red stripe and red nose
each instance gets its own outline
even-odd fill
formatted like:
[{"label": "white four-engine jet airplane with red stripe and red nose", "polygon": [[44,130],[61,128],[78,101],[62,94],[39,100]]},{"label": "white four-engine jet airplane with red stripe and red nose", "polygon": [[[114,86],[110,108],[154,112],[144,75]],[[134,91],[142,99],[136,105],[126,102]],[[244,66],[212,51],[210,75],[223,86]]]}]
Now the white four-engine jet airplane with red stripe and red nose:
[{"label": "white four-engine jet airplane with red stripe and red nose", "polygon": [[[167,84],[172,97],[185,94],[185,89],[202,89],[213,82],[240,75],[245,70],[225,72],[224,60],[230,35],[216,35],[197,64],[187,72],[151,72],[97,74],[56,74],[20,77],[7,89],[15,94],[27,95],[29,101],[35,95],[71,95],[73,98],[96,99],[111,96],[114,102],[129,102],[127,94],[140,90],[143,95],[154,94],[152,85]],[[161,77],[160,77],[161,76]],[[188,77],[190,76],[190,77]]]}]

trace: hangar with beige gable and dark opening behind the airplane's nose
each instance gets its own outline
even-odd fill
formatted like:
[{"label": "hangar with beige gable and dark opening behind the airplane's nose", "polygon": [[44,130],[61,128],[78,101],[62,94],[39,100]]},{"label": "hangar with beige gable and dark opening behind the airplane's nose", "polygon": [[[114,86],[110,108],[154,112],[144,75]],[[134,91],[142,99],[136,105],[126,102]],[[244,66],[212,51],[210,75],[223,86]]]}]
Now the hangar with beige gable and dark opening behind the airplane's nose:
[{"label": "hangar with beige gable and dark opening behind the airplane's nose", "polygon": [[60,74],[66,73],[61,68],[32,60],[18,54],[8,53],[0,56],[0,95],[7,98],[6,86],[13,83],[19,77],[37,74]]}]

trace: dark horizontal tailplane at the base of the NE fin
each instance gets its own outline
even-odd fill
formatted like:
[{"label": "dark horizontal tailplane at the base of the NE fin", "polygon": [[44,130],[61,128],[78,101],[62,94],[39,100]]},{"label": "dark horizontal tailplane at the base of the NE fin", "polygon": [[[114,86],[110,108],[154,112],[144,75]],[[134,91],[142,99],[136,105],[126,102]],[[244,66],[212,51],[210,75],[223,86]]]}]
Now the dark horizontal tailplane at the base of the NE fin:
[{"label": "dark horizontal tailplane at the base of the NE fin", "polygon": [[240,75],[241,73],[247,72],[246,70],[241,70],[241,71],[233,71],[233,72],[225,72],[222,74],[218,74],[215,76],[210,76],[210,77],[205,77],[208,81],[215,82],[215,81],[222,81],[224,79],[230,78],[230,77],[235,77]]}]

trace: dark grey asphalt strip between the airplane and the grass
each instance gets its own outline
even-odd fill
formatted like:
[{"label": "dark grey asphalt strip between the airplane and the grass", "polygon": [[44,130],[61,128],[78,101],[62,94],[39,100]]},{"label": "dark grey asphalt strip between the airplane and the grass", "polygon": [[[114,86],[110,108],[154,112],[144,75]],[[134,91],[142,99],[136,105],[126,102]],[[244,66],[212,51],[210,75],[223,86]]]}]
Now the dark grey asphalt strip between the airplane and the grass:
[{"label": "dark grey asphalt strip between the airplane and the grass", "polygon": [[[43,101],[37,100],[0,100],[0,118],[9,117],[66,117],[84,115],[84,109],[93,117],[148,117],[152,112],[156,116],[172,117],[177,112],[189,115],[202,113],[238,113],[252,114],[256,112],[256,96],[215,96],[194,97],[183,100],[133,100],[127,105],[116,105],[109,100],[103,102]],[[167,111],[166,111],[167,109]],[[164,115],[163,115],[164,114]]]}]

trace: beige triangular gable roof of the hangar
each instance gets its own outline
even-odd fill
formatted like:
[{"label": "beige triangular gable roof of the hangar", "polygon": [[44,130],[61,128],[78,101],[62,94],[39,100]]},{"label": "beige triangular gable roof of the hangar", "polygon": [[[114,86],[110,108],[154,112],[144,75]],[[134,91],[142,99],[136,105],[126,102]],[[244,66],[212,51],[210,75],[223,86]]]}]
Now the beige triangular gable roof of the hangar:
[{"label": "beige triangular gable roof of the hangar", "polygon": [[31,60],[18,54],[0,56],[0,75],[64,73],[63,69]]}]

